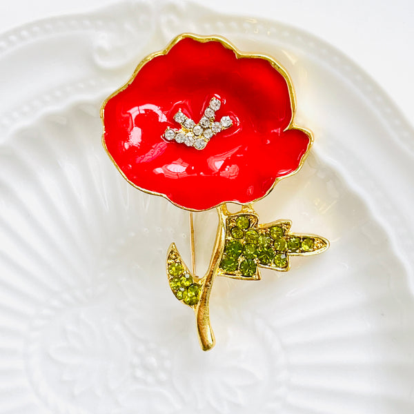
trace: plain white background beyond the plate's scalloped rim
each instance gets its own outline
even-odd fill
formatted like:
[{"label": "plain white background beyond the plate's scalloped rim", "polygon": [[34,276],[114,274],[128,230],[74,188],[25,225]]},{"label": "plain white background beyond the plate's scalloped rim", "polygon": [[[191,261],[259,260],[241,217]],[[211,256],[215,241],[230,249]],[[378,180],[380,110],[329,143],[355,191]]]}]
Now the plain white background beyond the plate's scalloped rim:
[{"label": "plain white background beyond the plate's scalloped rim", "polygon": [[[152,0],[157,1],[157,0]],[[328,41],[368,72],[414,124],[414,1],[195,0],[218,12],[289,23]],[[0,32],[113,0],[0,0]]]}]

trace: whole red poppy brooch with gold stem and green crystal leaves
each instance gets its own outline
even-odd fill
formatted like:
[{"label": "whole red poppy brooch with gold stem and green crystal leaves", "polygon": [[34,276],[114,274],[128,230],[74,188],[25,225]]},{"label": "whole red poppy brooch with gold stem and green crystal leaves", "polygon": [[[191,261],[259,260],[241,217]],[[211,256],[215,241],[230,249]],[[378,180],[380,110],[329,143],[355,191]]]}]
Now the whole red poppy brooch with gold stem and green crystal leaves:
[{"label": "whole red poppy brooch with gold stem and green crystal leaves", "polygon": [[[301,168],[313,144],[294,122],[286,71],[226,39],[181,34],[146,57],[101,107],[103,147],[124,178],[190,212],[191,269],[174,243],[166,253],[172,293],[195,312],[201,348],[215,344],[209,299],[215,277],[259,280],[286,272],[295,256],[328,240],[295,233],[287,219],[259,222],[253,203]],[[226,203],[239,204],[230,213]],[[206,275],[195,273],[193,212],[216,208],[217,236]]]}]

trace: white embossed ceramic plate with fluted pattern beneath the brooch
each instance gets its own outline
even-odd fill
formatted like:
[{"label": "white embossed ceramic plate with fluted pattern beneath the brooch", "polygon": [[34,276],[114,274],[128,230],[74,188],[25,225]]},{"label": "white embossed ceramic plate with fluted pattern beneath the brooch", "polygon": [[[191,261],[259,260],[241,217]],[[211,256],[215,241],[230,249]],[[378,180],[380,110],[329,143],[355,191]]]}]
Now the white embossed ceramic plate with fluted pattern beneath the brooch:
[{"label": "white embossed ceramic plate with fluted pattern beneath the brooch", "polygon": [[[164,268],[170,242],[188,260],[188,213],[128,186],[99,119],[142,57],[188,31],[288,70],[315,146],[257,210],[331,240],[289,273],[218,279],[208,353]],[[176,3],[38,21],[0,53],[1,414],[414,411],[414,135],[351,61],[280,23]],[[200,269],[215,223],[197,215]]]}]

